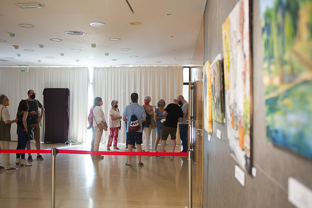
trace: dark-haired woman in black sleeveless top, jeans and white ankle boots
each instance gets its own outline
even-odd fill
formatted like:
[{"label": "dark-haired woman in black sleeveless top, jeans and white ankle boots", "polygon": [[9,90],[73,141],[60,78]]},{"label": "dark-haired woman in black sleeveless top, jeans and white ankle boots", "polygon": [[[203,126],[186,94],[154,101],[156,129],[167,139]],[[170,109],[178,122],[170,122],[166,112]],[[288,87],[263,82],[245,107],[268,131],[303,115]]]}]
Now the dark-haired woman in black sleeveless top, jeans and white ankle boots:
[{"label": "dark-haired woman in black sleeveless top, jeans and white ankle boots", "polygon": [[[28,104],[26,100],[21,100],[17,108],[17,148],[16,149],[26,149],[27,145],[27,124],[30,124],[30,115],[28,114]],[[16,153],[15,164],[21,164],[21,166],[31,166],[25,160],[25,153]]]}]

